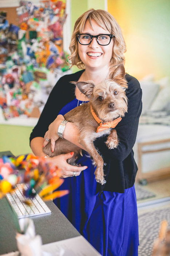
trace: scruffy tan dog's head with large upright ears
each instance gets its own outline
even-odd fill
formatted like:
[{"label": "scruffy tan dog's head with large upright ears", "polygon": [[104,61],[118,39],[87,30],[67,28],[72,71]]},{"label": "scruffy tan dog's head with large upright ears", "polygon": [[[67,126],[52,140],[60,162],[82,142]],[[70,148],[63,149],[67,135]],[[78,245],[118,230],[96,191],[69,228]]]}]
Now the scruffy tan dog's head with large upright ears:
[{"label": "scruffy tan dog's head with large upright ears", "polygon": [[124,79],[122,67],[115,69],[111,78],[97,85],[92,81],[76,84],[91,102],[97,116],[104,122],[112,121],[119,116],[123,117],[127,112],[127,97],[125,94],[127,82]]}]

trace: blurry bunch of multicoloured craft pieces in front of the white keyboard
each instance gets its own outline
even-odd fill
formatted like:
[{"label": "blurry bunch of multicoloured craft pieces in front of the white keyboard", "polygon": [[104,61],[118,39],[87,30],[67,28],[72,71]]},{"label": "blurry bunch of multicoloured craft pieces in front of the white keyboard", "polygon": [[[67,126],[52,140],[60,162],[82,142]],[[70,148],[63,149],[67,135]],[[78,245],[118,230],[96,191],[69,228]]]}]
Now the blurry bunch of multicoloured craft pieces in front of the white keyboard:
[{"label": "blurry bunch of multicoloured craft pieces in front of the white keyboard", "polygon": [[[63,182],[58,167],[44,158],[32,154],[20,155],[16,158],[6,156],[0,158],[0,199],[6,193],[15,190],[15,185],[18,183],[27,184],[28,189],[23,190],[23,193],[28,199],[35,197],[40,187],[42,189],[39,195],[43,200],[55,199],[69,192],[68,190],[53,192]],[[29,200],[23,203],[30,204]]]}]

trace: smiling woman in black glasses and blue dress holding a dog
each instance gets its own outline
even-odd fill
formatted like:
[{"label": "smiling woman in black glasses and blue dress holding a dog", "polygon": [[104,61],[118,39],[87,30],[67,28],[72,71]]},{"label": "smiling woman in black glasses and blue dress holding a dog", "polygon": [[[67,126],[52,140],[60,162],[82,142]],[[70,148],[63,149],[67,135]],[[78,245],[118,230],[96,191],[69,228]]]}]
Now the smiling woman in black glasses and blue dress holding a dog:
[{"label": "smiling woman in black glasses and blue dress holding a dog", "polygon": [[[117,65],[124,64],[126,46],[115,19],[106,11],[91,9],[76,21],[70,51],[72,65],[83,70],[63,76],[52,90],[30,137],[32,151],[39,156],[45,155],[42,151],[43,143],[45,146],[50,139],[54,150],[63,115],[88,100],[70,82],[93,80],[98,84],[108,79]],[[86,152],[77,159],[80,167],[66,162],[73,152],[49,158],[62,169],[65,181],[60,189],[70,190],[69,195],[55,200],[55,204],[96,250],[107,256],[138,255],[134,188],[137,165],[132,148],[142,109],[142,92],[137,79],[129,74],[125,78],[128,82],[128,112],[116,126],[119,145],[109,150],[105,144],[107,136],[94,142],[104,159],[106,184],[101,185],[95,181],[95,167]],[[68,122],[64,128],[62,136],[79,145],[79,133],[74,125]]]}]

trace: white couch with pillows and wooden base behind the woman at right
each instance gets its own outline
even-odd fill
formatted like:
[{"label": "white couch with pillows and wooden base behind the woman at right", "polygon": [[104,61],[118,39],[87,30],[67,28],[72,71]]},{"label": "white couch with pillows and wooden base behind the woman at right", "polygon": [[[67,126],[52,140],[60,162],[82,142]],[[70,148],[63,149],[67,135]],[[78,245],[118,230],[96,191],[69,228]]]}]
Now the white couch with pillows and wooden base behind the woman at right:
[{"label": "white couch with pillows and wooden base behind the woman at right", "polygon": [[137,180],[145,183],[170,176],[170,79],[148,76],[140,84],[143,110],[133,150]]}]

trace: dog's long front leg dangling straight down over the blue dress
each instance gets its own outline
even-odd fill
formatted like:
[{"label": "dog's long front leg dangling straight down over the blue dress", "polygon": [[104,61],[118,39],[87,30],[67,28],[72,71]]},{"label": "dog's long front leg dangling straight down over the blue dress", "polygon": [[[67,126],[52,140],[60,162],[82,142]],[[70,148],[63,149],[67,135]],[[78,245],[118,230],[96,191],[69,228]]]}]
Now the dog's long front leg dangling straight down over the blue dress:
[{"label": "dog's long front leg dangling straight down over the blue dress", "polygon": [[96,166],[95,170],[95,179],[97,182],[104,184],[104,172],[103,172],[103,158],[99,155],[93,143],[87,143],[88,139],[79,139],[79,143],[83,146],[83,148],[91,155],[94,161],[94,165]]}]

